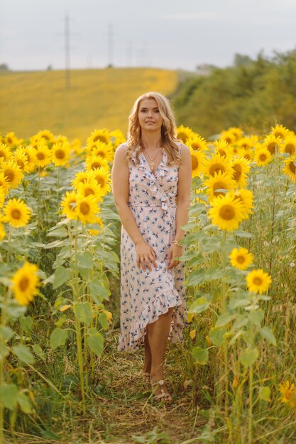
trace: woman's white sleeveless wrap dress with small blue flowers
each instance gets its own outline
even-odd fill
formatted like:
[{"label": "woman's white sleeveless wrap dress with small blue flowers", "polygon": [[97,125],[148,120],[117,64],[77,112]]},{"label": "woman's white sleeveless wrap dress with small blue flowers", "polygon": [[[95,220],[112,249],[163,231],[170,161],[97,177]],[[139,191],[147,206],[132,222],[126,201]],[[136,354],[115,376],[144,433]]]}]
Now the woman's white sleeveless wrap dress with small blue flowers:
[{"label": "woman's white sleeveless wrap dress with small blue flowers", "polygon": [[130,207],[144,240],[156,253],[157,268],[139,269],[133,240],[121,226],[121,334],[118,350],[137,350],[144,343],[146,326],[157,321],[170,307],[169,339],[182,341],[186,323],[185,265],[168,270],[168,249],[175,237],[178,165],[167,166],[168,156],[151,172],[143,152],[136,164],[136,151],[129,166]]}]

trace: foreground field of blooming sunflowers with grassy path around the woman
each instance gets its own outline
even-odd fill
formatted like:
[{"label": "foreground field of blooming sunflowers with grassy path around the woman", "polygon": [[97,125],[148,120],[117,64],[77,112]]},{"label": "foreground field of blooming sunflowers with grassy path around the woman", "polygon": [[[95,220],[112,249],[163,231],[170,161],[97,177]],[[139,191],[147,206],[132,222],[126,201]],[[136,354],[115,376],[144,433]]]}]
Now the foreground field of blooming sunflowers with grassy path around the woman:
[{"label": "foreground field of blooming sunflowers with grassy path around the woman", "polygon": [[174,402],[117,351],[119,130],[0,144],[0,442],[296,443],[296,135],[179,126],[192,155]]}]

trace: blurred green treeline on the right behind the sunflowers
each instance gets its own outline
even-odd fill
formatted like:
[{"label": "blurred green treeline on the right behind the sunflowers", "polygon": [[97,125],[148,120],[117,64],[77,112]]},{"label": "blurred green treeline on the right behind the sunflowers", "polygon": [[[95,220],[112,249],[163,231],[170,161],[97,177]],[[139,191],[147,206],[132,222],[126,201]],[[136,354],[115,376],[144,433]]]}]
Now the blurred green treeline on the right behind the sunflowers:
[{"label": "blurred green treeline on the right behind the sunflowers", "polygon": [[296,131],[296,49],[256,60],[236,55],[234,66],[187,79],[172,96],[177,123],[209,137],[229,126]]}]

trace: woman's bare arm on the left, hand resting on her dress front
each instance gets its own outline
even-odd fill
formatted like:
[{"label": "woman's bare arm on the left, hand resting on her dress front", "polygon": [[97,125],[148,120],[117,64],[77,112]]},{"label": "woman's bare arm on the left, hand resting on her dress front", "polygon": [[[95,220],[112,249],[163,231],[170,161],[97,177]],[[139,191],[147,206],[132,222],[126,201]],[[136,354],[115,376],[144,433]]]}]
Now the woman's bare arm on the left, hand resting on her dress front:
[{"label": "woman's bare arm on the left, hand resting on her dress front", "polygon": [[147,265],[151,270],[150,262],[154,267],[157,267],[155,262],[155,252],[153,248],[145,242],[140,230],[133,217],[133,213],[128,206],[128,164],[126,162],[126,149],[124,146],[117,148],[114,155],[114,162],[112,167],[112,189],[117,212],[121,219],[121,223],[126,229],[133,243],[136,245],[136,262],[140,267],[140,259],[143,257],[141,267],[145,270]]}]

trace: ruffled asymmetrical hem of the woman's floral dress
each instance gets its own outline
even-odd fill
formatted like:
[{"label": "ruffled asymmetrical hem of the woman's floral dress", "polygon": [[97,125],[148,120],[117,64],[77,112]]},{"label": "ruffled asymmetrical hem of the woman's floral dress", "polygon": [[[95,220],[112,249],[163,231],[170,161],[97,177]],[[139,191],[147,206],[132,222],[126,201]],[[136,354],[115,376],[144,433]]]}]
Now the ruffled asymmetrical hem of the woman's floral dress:
[{"label": "ruffled asymmetrical hem of the woman's floral dress", "polygon": [[138,350],[144,343],[147,325],[157,321],[159,316],[168,313],[168,309],[172,307],[175,307],[175,310],[172,313],[168,339],[172,343],[181,342],[183,340],[182,330],[186,325],[185,309],[177,290],[173,289],[155,296],[152,306],[143,307],[141,317],[138,321],[131,323],[131,330],[121,332],[118,350]]}]

